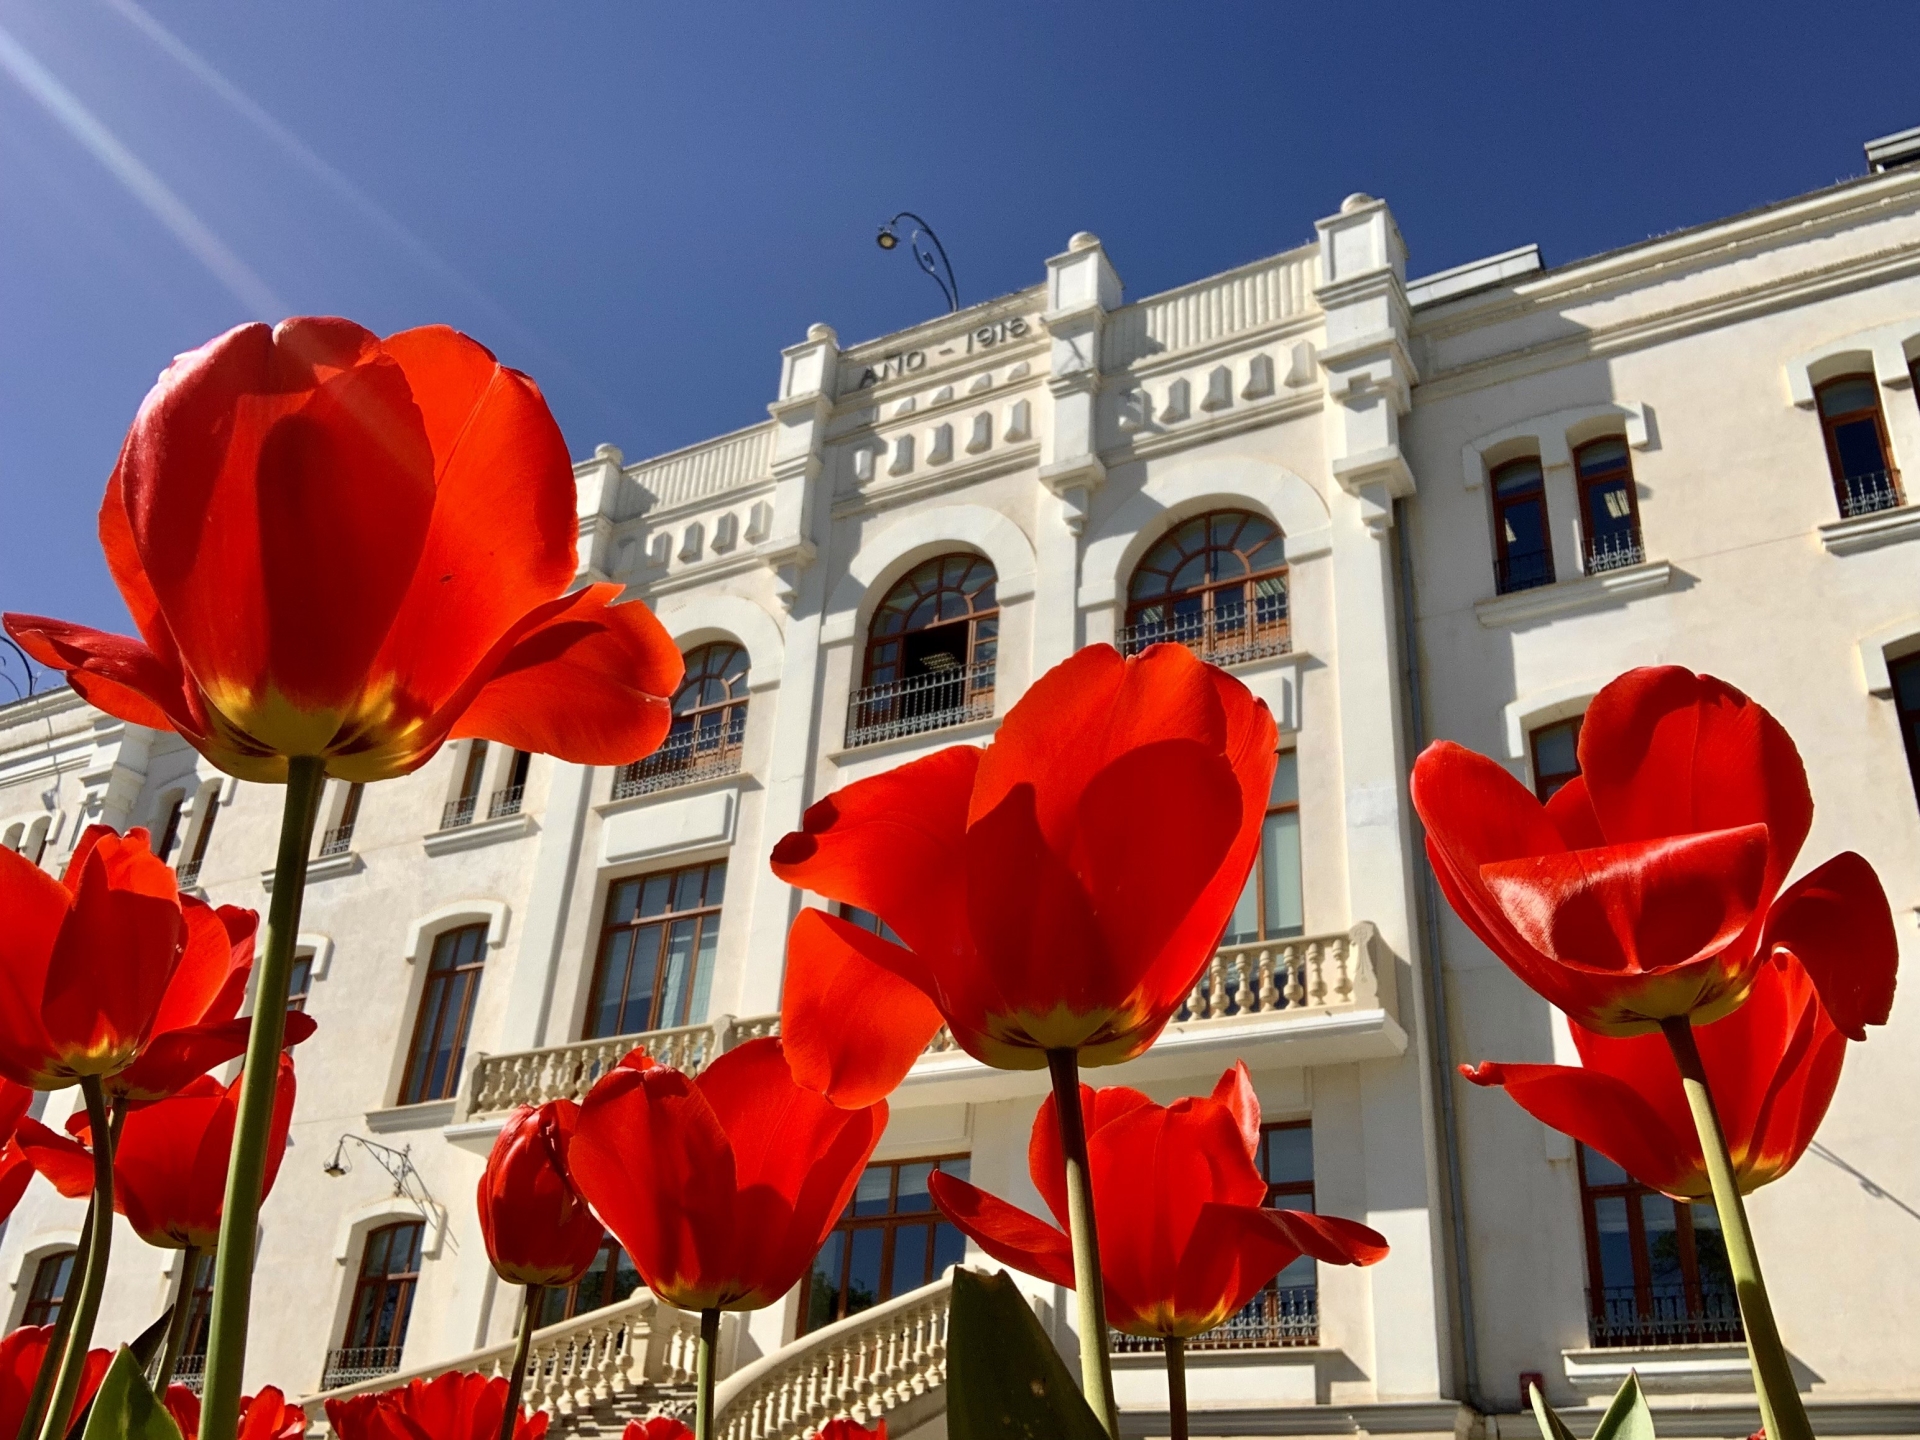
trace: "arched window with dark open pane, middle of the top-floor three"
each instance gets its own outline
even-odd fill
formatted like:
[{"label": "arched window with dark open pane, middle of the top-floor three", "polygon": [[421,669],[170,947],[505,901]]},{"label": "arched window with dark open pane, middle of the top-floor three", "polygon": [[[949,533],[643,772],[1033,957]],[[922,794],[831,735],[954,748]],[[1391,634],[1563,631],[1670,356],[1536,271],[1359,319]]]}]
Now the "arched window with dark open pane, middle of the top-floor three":
[{"label": "arched window with dark open pane, middle of the top-floor three", "polygon": [[998,636],[991,561],[941,555],[916,564],[874,611],[866,684],[847,707],[847,743],[991,718]]}]

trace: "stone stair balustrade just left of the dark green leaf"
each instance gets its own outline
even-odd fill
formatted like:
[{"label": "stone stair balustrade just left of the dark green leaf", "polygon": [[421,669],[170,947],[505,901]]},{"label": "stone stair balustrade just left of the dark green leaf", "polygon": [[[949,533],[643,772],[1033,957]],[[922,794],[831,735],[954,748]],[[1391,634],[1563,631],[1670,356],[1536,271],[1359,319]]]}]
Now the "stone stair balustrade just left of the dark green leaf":
[{"label": "stone stair balustrade just left of the dark green leaf", "polygon": [[[945,1409],[950,1298],[948,1273],[730,1375],[714,1390],[714,1434],[801,1440],[839,1415],[872,1425],[924,1396],[924,1409]],[[897,1430],[910,1428],[899,1421]]]}]

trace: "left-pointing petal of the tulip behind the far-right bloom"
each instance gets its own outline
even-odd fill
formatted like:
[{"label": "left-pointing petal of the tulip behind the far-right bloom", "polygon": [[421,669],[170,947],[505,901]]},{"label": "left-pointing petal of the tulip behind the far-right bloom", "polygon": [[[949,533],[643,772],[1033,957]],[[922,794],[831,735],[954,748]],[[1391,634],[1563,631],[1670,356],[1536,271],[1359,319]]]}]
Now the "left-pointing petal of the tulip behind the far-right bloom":
[{"label": "left-pointing petal of the tulip behind the far-right bloom", "polygon": [[1707,1194],[1707,1162],[1692,1129],[1676,1133],[1626,1081],[1578,1066],[1461,1066],[1475,1085],[1501,1087],[1534,1119],[1571,1135],[1665,1194]]}]

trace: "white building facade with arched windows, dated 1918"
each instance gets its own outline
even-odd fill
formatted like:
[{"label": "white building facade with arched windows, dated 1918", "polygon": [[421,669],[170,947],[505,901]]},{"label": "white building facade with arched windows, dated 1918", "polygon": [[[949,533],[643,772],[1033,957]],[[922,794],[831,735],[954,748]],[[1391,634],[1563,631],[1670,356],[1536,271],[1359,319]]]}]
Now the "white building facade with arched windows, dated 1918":
[{"label": "white building facade with arched windows, dated 1918", "polygon": [[[766,854],[808,804],[985,743],[1081,645],[1177,639],[1267,701],[1281,778],[1188,1010],[1089,1079],[1171,1100],[1246,1060],[1273,1202],[1392,1242],[1296,1265],[1198,1346],[1194,1432],[1505,1430],[1523,1375],[1580,1407],[1628,1367],[1663,1428],[1751,1432],[1705,1221],[1452,1073],[1571,1043],[1436,906],[1405,778],[1444,735],[1549,787],[1607,678],[1711,670],[1795,733],[1807,854],[1862,851],[1910,952],[1916,361],[1920,167],[1411,284],[1388,205],[1352,196],[1298,250],[1133,303],[1079,234],[1031,290],[851,348],[814,326],[764,424],[634,465],[603,445],[576,467],[582,580],[624,582],[685,651],[676,735],[622,772],[459,743],[328,783],[296,977],[319,1033],[248,1386],[497,1365],[518,1296],[472,1188],[505,1112],[634,1044],[697,1066],[774,1029],[787,925],[822,900]],[[0,843],[48,868],[88,822],[140,824],[182,885],[265,908],[278,804],[71,695],[0,710]],[[1820,1148],[1753,1200],[1820,1432],[1920,1432],[1914,1025],[1897,1004],[1853,1046]],[[837,1409],[943,1434],[941,1273],[966,1248],[925,1175],[1039,1208],[1043,1085],[929,1048],[814,1275],[730,1327],[730,1434]],[[44,1185],[23,1200],[10,1325],[60,1304],[79,1223]],[[194,1288],[171,1261],[121,1225],[104,1338]],[[685,1317],[634,1284],[609,1254],[549,1296],[540,1398],[574,1428],[682,1394]],[[1071,1304],[1033,1294],[1071,1348]],[[1160,1356],[1116,1367],[1127,1430],[1164,1434]]]}]

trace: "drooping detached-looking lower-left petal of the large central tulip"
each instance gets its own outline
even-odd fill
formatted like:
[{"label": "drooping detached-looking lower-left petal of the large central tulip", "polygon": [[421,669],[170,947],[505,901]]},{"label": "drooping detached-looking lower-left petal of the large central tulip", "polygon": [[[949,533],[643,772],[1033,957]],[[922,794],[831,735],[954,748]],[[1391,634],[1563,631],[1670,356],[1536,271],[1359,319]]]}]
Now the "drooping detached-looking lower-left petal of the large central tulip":
[{"label": "drooping detached-looking lower-left petal of the large central tulip", "polygon": [[787,931],[780,1035],[793,1079],[841,1106],[883,1100],[941,1027],[912,950],[826,910]]}]

